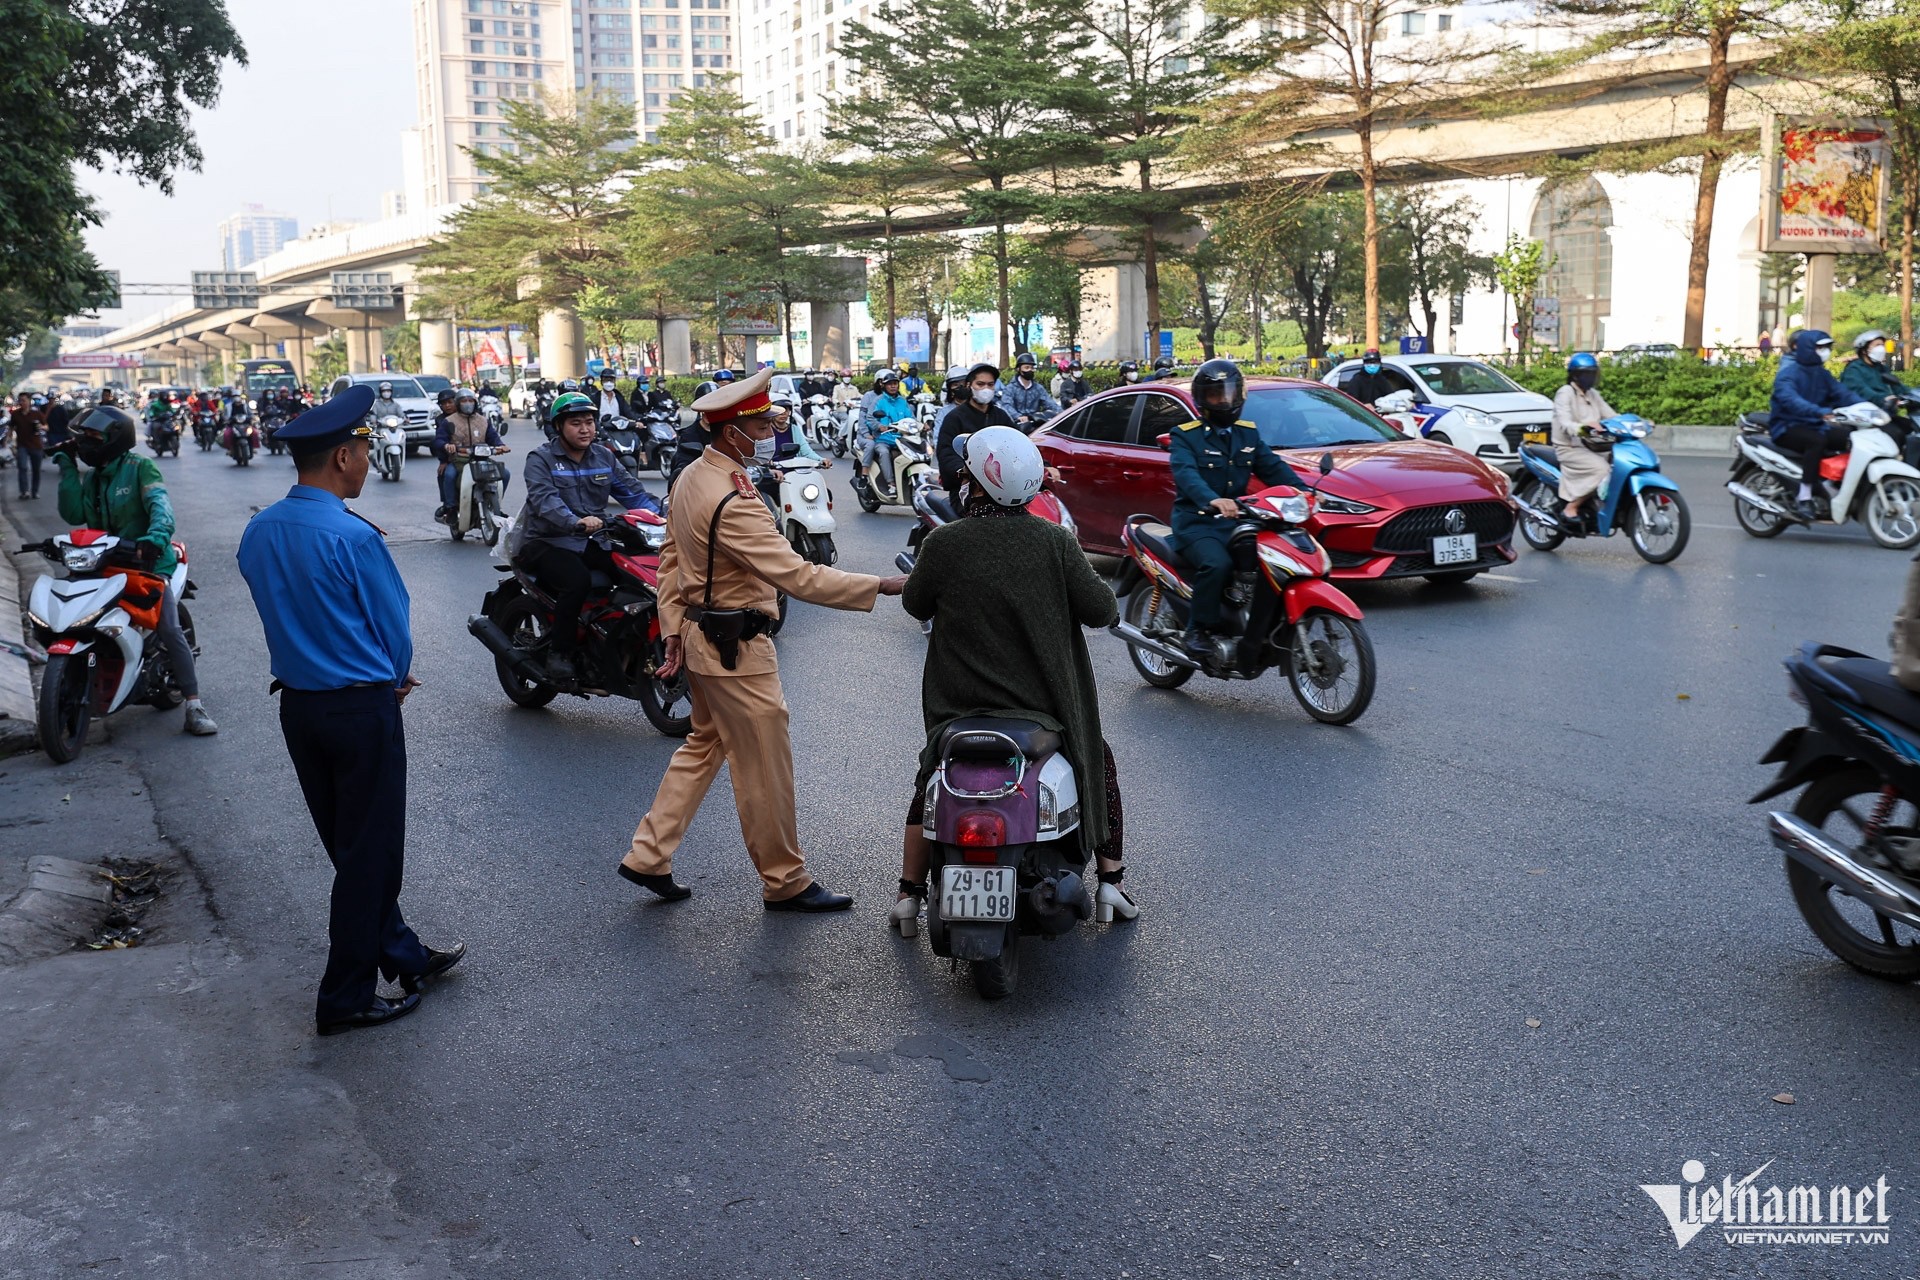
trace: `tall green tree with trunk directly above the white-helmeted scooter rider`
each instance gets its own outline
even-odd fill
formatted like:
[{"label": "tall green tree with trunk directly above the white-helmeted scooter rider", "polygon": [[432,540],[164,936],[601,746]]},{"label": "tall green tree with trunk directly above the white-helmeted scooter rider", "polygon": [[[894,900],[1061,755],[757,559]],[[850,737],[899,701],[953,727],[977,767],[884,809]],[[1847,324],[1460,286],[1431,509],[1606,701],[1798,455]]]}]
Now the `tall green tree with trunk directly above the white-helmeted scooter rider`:
[{"label": "tall green tree with trunk directly above the white-helmeted scooter rider", "polygon": [[[910,31],[902,40],[899,33]],[[835,104],[829,138],[860,146],[881,134],[948,173],[968,219],[991,226],[1000,363],[1012,332],[1010,226],[1046,211],[1021,182],[1085,134],[1060,109],[1052,10],[1039,0],[881,0],[872,25],[841,31],[841,58],[860,94]]]}]

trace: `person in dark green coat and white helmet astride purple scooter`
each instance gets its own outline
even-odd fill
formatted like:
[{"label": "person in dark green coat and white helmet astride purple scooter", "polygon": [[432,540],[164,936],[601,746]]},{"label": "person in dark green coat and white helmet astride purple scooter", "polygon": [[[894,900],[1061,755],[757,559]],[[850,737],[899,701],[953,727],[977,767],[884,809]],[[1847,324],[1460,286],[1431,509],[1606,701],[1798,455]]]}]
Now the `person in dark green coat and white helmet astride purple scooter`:
[{"label": "person in dark green coat and white helmet astride purple scooter", "polygon": [[927,533],[900,604],[922,622],[939,618],[927,641],[920,704],[927,747],[906,814],[900,896],[891,923],[912,936],[927,894],[927,850],[920,831],[927,779],[939,768],[941,731],[962,716],[1023,716],[1058,729],[1081,779],[1102,779],[1106,804],[1083,806],[1079,841],[1098,860],[1100,915],[1133,919],[1140,908],[1121,879],[1119,783],[1114,752],[1100,737],[1100,697],[1081,628],[1119,616],[1114,591],[1087,564],[1064,528],[1025,505],[1041,491],[1041,451],[1010,426],[966,439],[964,520]]}]

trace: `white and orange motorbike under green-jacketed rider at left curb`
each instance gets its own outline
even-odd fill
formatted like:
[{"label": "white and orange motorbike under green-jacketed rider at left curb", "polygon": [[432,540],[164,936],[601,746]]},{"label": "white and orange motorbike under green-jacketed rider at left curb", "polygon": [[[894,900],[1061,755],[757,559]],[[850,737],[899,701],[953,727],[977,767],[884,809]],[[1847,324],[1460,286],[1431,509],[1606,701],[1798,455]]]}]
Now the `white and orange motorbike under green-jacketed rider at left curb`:
[{"label": "white and orange motorbike under green-jacketed rider at left curb", "polygon": [[[186,578],[186,547],[173,543],[180,562],[171,581],[180,597],[180,629],[188,647],[194,643],[194,618],[186,599],[194,583]],[[86,725],[92,718],[111,716],[123,706],[146,702],[157,710],[180,704],[180,687],[167,662],[154,626],[157,622],[159,576],[140,574],[132,558],[132,543],[100,530],[73,530],[42,543],[21,547],[38,551],[65,570],[65,578],[42,576],[33,583],[27,620],[33,639],[46,649],[46,672],[40,676],[38,731],[40,748],[54,764],[69,764],[86,747]],[[134,614],[142,622],[134,622]]]}]

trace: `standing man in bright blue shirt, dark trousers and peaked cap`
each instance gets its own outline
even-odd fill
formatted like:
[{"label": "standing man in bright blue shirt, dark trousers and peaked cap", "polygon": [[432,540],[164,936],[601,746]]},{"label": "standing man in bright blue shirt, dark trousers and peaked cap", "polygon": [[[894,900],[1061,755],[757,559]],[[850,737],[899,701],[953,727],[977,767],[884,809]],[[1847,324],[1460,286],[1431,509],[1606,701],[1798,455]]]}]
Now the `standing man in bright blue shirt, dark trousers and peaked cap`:
[{"label": "standing man in bright blue shirt, dark trousers and peaked cap", "polygon": [[[367,484],[367,411],[355,386],[280,428],[298,484],[240,537],[240,574],[267,631],[280,733],[321,844],[334,864],[323,1036],[376,1027],[420,1004],[420,983],[451,969],[463,944],[434,950],[399,913],[407,823],[407,743],[399,704],[409,674],[407,587],[380,530],[348,510]],[[376,975],[399,981],[382,998]]]}]

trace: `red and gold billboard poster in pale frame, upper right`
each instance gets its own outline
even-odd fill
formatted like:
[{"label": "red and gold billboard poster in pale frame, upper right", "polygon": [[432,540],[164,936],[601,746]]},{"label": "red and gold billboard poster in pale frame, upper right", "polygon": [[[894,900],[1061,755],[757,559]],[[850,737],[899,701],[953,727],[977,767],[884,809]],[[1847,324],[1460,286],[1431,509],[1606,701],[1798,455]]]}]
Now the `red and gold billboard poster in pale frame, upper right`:
[{"label": "red and gold billboard poster in pale frame, upper right", "polygon": [[1880,253],[1893,140],[1878,121],[1774,117],[1761,182],[1761,249]]}]

